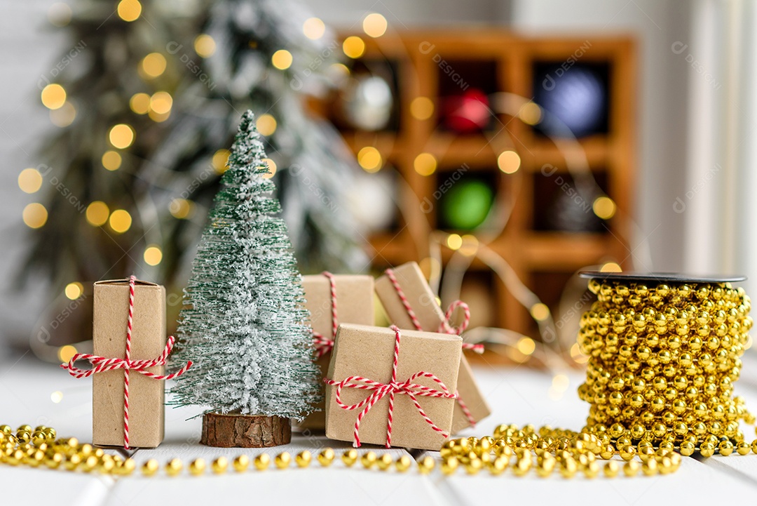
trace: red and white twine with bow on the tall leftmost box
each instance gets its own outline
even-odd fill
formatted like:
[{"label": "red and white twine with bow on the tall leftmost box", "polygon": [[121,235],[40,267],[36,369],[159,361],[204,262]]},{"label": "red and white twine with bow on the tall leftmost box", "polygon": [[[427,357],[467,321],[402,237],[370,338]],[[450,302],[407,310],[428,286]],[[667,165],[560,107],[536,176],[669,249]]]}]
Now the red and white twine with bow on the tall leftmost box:
[{"label": "red and white twine with bow on the tall leftmost box", "polygon": [[[132,317],[134,316],[134,286],[136,277],[129,277],[129,322],[126,325],[126,357],[125,358],[104,358],[89,353],[77,353],[73,355],[68,364],[61,364],[61,367],[68,370],[68,373],[75,378],[87,378],[92,374],[101,373],[106,370],[123,369],[123,448],[129,449],[129,371],[134,370],[148,378],[152,379],[173,379],[181,376],[189,367],[192,367],[192,361],[188,361],[184,367],[171,374],[155,374],[148,371],[149,367],[165,365],[168,355],[173,349],[173,343],[176,339],[169,336],[166,347],[159,357],[151,360],[133,360],[132,353]],[[86,360],[92,364],[92,369],[79,369],[74,367],[74,362]]]}]

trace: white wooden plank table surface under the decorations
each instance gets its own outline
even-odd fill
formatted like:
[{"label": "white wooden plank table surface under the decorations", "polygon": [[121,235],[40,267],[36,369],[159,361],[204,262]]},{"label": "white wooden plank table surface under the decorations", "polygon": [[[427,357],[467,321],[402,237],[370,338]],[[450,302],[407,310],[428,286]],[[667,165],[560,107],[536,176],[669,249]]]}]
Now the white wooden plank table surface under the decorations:
[{"label": "white wooden plank table surface under the decorations", "polygon": [[[757,410],[757,358],[748,356],[737,395]],[[525,367],[475,367],[479,383],[488,394],[494,414],[465,435],[491,434],[498,423],[549,424],[570,429],[583,426],[588,405],[578,400],[576,389],[582,373],[571,373],[570,386],[562,398],[550,398],[552,378],[547,373]],[[0,423],[18,426],[29,423],[53,426],[59,436],[75,436],[88,441],[91,429],[91,383],[89,379],[73,379],[64,370],[40,364],[26,355],[20,359],[0,361]],[[59,402],[51,398],[62,392]],[[167,408],[166,441],[154,450],[136,451],[138,464],[156,458],[161,466],[170,458],[181,458],[185,466],[193,458],[202,457],[208,466],[213,458],[240,453],[250,456],[255,450],[207,448],[198,444],[201,420],[186,420],[195,414],[187,409]],[[754,438],[754,429],[746,427],[747,438]],[[268,449],[273,457],[279,451],[295,454],[308,448],[340,448],[349,444],[319,437],[294,436],[291,445]],[[381,453],[381,448],[364,446]],[[361,448],[361,450],[363,449]],[[403,450],[394,449],[397,456]],[[428,452],[435,455],[436,452]],[[292,464],[294,466],[294,464]],[[76,504],[76,506],[123,506],[124,504],[505,504],[512,500],[559,504],[716,504],[718,501],[749,501],[757,493],[757,454],[708,459],[684,458],[678,473],[668,476],[634,479],[618,476],[607,479],[577,477],[565,480],[554,473],[547,479],[530,473],[523,478],[506,471],[501,476],[481,472],[468,476],[459,470],[454,476],[443,476],[435,470],[428,476],[419,473],[366,471],[356,464],[347,469],[338,459],[328,469],[315,462],[308,469],[292,467],[245,473],[229,472],[216,476],[206,471],[201,477],[159,473],[154,477],[111,477],[97,473],[70,473],[48,469],[9,467],[0,464],[0,504]],[[675,501],[675,502],[673,502]]]}]

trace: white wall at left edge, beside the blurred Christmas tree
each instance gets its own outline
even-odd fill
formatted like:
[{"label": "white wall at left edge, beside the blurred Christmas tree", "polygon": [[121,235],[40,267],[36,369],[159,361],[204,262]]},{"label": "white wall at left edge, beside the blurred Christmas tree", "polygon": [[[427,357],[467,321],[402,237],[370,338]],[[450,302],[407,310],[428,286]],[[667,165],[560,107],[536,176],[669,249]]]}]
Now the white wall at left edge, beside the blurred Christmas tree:
[{"label": "white wall at left edge, beside the blurred Christmas tree", "polygon": [[[31,325],[44,308],[38,286],[20,295],[14,287],[24,240],[23,207],[35,201],[18,189],[18,173],[36,167],[35,151],[51,128],[48,112],[39,101],[37,81],[55,65],[64,49],[53,33],[46,12],[54,0],[2,0],[0,20],[0,342],[26,342]],[[39,198],[39,194],[37,194]]]}]

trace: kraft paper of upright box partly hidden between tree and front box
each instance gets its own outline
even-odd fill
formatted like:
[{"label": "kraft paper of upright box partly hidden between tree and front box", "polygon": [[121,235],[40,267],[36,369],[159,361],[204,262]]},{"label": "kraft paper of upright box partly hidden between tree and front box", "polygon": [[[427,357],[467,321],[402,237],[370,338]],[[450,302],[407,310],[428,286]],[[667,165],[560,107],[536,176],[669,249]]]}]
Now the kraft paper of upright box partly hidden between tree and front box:
[{"label": "kraft paper of upright box partly hidden between tree and front box", "polygon": [[[373,325],[373,276],[332,274],[336,288],[337,323],[360,323]],[[326,339],[334,339],[332,320],[332,294],[329,278],[323,274],[302,276],[305,289],[305,307],[310,311],[310,325],[314,333]],[[331,361],[331,351],[316,361],[321,377],[326,376]],[[325,386],[325,385],[324,385]],[[323,389],[322,389],[323,390]],[[326,428],[326,403],[319,402],[319,411],[308,415],[298,423],[301,429],[323,430]]]}]

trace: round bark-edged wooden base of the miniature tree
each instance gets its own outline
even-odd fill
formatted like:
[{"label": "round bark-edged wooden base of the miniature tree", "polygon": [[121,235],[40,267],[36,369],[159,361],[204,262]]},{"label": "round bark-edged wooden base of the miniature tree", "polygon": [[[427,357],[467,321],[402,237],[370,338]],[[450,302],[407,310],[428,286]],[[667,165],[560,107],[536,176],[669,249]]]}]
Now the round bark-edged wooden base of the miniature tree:
[{"label": "round bark-edged wooden base of the miniature tree", "polygon": [[202,417],[203,445],[220,448],[264,448],[291,441],[291,420],[238,413],[206,413]]}]

